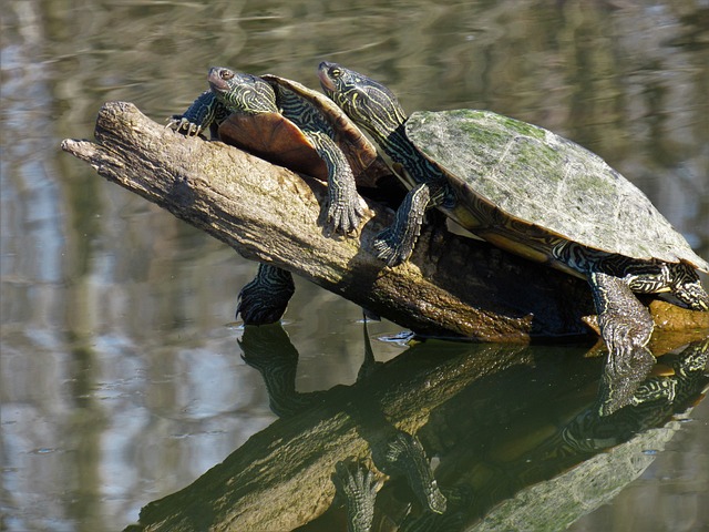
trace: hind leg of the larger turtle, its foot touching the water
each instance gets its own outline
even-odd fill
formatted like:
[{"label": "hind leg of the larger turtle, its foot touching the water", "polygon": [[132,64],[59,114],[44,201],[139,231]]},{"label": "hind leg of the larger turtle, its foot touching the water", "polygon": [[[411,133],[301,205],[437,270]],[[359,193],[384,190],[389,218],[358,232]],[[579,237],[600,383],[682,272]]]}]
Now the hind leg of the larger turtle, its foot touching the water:
[{"label": "hind leg of the larger turtle, its foot touching the water", "polygon": [[610,352],[609,362],[621,370],[623,366],[629,366],[633,354],[650,340],[653,317],[626,279],[592,272],[588,284],[598,311],[600,336]]}]

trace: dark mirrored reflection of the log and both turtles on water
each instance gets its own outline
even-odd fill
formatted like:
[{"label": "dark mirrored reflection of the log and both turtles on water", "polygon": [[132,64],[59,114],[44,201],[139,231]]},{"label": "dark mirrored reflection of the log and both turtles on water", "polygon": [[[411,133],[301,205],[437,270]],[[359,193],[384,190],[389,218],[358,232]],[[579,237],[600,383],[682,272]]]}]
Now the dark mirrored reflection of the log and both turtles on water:
[{"label": "dark mirrored reflection of the log and both turtles on water", "polygon": [[299,392],[281,326],[245,327],[280,419],[126,530],[345,530],[356,511],[377,531],[561,530],[638,478],[709,385],[709,340],[628,387],[583,346],[427,340],[381,364],[364,335],[357,382]]}]

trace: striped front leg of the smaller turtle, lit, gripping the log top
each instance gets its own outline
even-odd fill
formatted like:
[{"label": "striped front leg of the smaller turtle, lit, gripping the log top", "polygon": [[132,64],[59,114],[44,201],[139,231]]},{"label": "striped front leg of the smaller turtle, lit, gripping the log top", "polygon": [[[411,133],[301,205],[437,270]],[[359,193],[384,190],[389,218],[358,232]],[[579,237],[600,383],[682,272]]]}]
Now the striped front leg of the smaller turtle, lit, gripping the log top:
[{"label": "striped front leg of the smaller turtle, lit, gripping the log top", "polygon": [[328,204],[326,225],[336,233],[351,233],[364,214],[357,194],[354,174],[347,157],[330,136],[322,132],[305,132],[328,168]]}]

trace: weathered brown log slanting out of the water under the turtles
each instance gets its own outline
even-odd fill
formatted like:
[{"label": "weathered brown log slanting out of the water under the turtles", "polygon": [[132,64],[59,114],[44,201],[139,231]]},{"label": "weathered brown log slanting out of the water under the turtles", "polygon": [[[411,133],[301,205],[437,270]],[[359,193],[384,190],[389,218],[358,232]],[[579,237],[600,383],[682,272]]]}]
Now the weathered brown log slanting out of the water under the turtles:
[{"label": "weathered brown log slanting out of the water under the turtles", "polygon": [[[184,137],[131,103],[106,103],[95,137],[64,140],[62,149],[244,257],[419,334],[528,341],[588,331],[580,318],[593,305],[583,280],[454,235],[444,224],[429,224],[411,260],[388,268],[368,252],[392,219],[377,202],[367,202],[358,237],[333,237],[318,224],[326,190],[316,180],[220,142]],[[696,319],[709,328],[709,315]]]}]

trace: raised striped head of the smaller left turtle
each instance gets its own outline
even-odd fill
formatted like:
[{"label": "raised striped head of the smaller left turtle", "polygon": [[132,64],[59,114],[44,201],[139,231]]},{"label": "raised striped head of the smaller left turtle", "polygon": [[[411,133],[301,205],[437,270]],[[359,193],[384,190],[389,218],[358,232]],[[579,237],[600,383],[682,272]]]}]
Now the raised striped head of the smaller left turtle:
[{"label": "raised striped head of the smaller left turtle", "polygon": [[256,75],[212,66],[207,80],[217,100],[232,112],[278,112],[274,89]]}]

